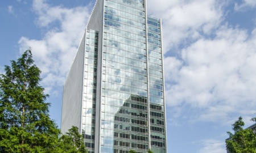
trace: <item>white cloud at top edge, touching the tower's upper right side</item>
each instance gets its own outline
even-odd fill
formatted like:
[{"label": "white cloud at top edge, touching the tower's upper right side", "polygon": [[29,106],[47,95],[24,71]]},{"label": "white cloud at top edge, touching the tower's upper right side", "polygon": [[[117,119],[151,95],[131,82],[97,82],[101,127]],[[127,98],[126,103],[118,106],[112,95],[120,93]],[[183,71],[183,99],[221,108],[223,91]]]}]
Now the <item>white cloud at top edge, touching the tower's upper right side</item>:
[{"label": "white cloud at top edge, touching the tower's upper right side", "polygon": [[[223,18],[224,2],[217,0],[148,1],[148,14],[163,19],[164,52],[210,34]],[[156,7],[158,6],[158,7]]]}]

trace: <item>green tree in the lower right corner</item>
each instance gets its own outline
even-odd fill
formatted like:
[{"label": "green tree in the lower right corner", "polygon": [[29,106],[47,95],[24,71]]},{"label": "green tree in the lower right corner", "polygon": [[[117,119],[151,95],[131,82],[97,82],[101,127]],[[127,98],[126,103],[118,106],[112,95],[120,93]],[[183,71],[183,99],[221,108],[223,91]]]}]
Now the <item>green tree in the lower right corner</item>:
[{"label": "green tree in the lower right corner", "polygon": [[[255,118],[251,119],[255,121]],[[226,139],[226,148],[232,153],[256,153],[256,135],[251,129],[243,129],[245,123],[242,117],[232,124],[234,134],[227,132],[229,138]]]}]

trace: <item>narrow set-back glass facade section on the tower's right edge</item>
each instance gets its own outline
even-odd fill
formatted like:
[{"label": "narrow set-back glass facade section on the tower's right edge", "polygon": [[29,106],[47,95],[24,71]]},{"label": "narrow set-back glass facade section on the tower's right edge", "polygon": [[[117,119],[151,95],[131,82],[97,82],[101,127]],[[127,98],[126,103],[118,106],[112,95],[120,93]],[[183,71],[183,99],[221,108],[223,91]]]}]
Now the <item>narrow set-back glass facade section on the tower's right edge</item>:
[{"label": "narrow set-back glass facade section on the tower's right edge", "polygon": [[147,17],[150,138],[151,150],[153,152],[164,152],[166,146],[162,35],[160,25],[159,19]]}]

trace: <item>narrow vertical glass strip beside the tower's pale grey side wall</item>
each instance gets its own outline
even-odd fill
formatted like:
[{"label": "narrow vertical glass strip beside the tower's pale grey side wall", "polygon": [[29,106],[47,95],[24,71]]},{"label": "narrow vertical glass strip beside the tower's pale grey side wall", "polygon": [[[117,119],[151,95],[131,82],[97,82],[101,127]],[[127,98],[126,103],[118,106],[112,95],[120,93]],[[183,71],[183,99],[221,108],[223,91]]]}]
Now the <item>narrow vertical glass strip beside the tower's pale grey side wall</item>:
[{"label": "narrow vertical glass strip beside the tower's pale grey side wall", "polygon": [[94,148],[96,121],[98,32],[86,31],[84,93],[82,100],[82,137],[89,150]]}]

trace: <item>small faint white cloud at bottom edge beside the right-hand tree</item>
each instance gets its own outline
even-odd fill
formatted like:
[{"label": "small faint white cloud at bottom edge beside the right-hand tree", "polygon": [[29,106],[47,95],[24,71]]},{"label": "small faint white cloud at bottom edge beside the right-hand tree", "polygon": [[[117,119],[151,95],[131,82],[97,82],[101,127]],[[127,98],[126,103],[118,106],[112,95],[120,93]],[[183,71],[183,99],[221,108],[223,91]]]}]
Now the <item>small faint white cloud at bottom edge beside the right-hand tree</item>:
[{"label": "small faint white cloud at bottom edge beside the right-hand tree", "polygon": [[199,150],[199,153],[226,153],[225,143],[216,140],[206,140],[202,144],[204,147]]}]

